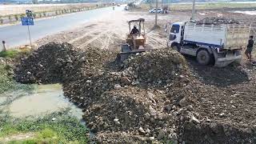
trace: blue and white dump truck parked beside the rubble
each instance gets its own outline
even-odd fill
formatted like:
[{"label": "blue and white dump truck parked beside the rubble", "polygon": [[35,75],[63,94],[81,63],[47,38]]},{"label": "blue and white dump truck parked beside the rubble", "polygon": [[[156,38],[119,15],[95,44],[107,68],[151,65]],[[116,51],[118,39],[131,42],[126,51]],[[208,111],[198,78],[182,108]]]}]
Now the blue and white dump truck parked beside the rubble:
[{"label": "blue and white dump truck parked beside the rubble", "polygon": [[241,62],[241,51],[246,47],[249,34],[249,25],[174,22],[167,46],[196,57],[202,66],[212,62],[214,66],[224,67]]}]

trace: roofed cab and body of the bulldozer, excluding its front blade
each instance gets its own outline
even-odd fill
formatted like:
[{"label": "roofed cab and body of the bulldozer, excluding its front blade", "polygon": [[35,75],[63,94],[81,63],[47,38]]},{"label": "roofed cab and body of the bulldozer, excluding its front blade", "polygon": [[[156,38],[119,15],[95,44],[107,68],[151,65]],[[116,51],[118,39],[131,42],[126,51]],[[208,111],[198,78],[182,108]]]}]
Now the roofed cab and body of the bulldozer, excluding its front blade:
[{"label": "roofed cab and body of the bulldozer, excluding its front blade", "polygon": [[[139,18],[137,20],[131,20],[128,22],[129,34],[126,36],[126,43],[131,46],[131,49],[144,48],[146,37],[145,37],[145,19]],[[138,32],[134,34],[134,26],[138,29]],[[136,31],[136,30],[135,30]]]}]

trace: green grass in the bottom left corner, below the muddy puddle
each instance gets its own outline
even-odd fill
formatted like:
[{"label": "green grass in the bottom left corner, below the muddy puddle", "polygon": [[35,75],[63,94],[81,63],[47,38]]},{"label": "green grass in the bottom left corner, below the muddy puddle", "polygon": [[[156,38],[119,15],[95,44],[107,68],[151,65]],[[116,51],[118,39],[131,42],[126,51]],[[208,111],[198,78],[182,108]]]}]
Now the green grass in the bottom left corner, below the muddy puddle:
[{"label": "green grass in the bottom left corner, below the muddy puddle", "polygon": [[[56,118],[54,121],[52,118]],[[12,119],[2,122],[1,139],[11,138],[14,134],[34,133],[33,138],[13,140],[5,143],[87,143],[86,126],[67,111],[49,114],[43,118]]]}]

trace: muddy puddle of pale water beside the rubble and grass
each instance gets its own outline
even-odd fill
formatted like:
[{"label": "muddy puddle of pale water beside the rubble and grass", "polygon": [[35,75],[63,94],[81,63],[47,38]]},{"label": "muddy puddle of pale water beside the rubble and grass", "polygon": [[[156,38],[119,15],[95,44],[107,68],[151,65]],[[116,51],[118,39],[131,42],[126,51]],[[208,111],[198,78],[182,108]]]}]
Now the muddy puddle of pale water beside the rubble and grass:
[{"label": "muddy puddle of pale water beside the rubble and grass", "polygon": [[25,91],[14,91],[5,94],[1,99],[9,99],[6,109],[14,118],[37,117],[68,108],[70,114],[82,119],[82,110],[64,97],[62,86],[59,84],[38,85],[30,94]]}]

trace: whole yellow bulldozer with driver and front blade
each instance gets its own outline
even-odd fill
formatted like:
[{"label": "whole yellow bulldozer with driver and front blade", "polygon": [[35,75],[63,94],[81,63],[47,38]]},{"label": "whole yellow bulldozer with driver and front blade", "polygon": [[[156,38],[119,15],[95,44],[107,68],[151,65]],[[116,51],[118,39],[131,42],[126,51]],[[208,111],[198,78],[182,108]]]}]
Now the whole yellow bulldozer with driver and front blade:
[{"label": "whole yellow bulldozer with driver and front blade", "polygon": [[[117,56],[118,62],[123,62],[130,54],[142,53],[146,51],[146,35],[144,27],[145,19],[130,20],[129,34],[126,35],[126,43],[122,44],[121,52]],[[131,29],[131,26],[134,26]]]}]

